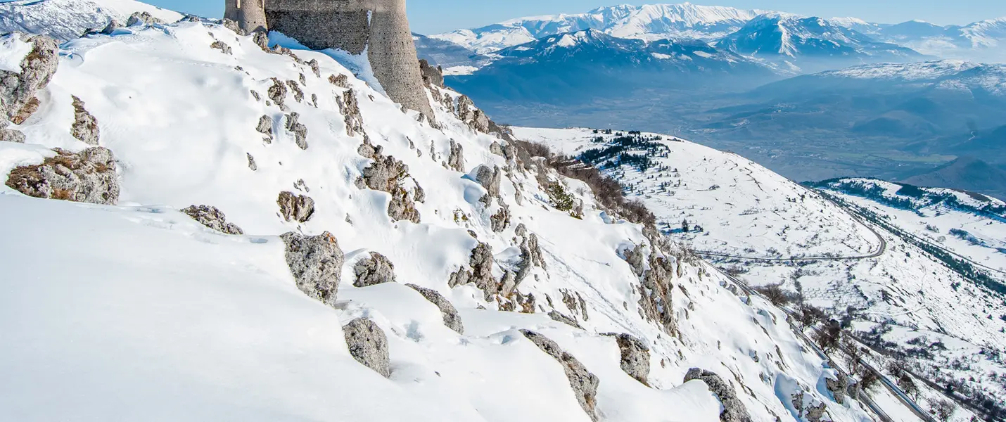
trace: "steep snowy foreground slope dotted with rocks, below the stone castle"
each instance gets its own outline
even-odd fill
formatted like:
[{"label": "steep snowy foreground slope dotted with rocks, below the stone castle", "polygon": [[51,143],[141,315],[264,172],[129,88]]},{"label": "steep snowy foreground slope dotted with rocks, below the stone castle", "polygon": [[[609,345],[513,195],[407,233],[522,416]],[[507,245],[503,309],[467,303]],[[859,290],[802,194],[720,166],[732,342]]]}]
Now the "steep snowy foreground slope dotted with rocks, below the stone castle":
[{"label": "steep snowy foreground slope dotted with rocks, below the stone castle", "polygon": [[[729,391],[753,421],[803,420],[794,395],[808,409],[826,405],[830,420],[869,420],[857,402],[834,401],[825,380],[835,371],[781,309],[738,296],[687,250],[600,209],[584,184],[540,160],[500,156],[506,142],[448,109],[462,103],[444,96],[456,92],[431,91],[438,129],[353,76],[346,65],[366,75],[361,57],[295,53],[199,22],[63,45],[38,110],[12,127],[26,143],[0,143],[0,174],[58,160],[51,148],[90,147],[70,131],[86,107],[116,156],[121,198],[85,205],[0,188],[0,419],[589,421],[583,399],[603,421],[714,422],[721,403],[732,407]],[[23,52],[4,54],[17,62]],[[266,142],[257,127],[270,119]],[[417,199],[420,223],[392,221],[391,195],[358,187],[376,177],[364,171],[375,164],[366,143],[407,166],[392,175],[394,192]],[[480,165],[502,169],[498,193],[476,182]],[[305,222],[279,214],[285,191],[313,199]],[[581,202],[578,218],[556,208],[556,192]],[[480,201],[490,195],[493,207]],[[193,204],[218,207],[247,234],[178,211]],[[490,214],[501,204],[511,222],[498,230]],[[298,290],[278,236],[286,232],[337,239],[346,262],[333,306]],[[449,283],[459,269],[476,271],[480,242],[495,259],[478,255],[479,271],[503,278],[532,233],[541,262],[514,292]],[[627,250],[672,268],[653,275],[667,284],[641,278],[635,271],[656,268],[634,269]],[[398,282],[353,285],[369,252],[386,255]],[[404,283],[453,302],[464,334]],[[350,356],[342,326],[356,318],[387,335],[389,378]],[[551,338],[595,374],[596,397],[576,397],[563,365],[519,329]],[[611,332],[650,349],[647,384],[623,371]],[[719,375],[718,396],[684,382],[693,367]]]}]

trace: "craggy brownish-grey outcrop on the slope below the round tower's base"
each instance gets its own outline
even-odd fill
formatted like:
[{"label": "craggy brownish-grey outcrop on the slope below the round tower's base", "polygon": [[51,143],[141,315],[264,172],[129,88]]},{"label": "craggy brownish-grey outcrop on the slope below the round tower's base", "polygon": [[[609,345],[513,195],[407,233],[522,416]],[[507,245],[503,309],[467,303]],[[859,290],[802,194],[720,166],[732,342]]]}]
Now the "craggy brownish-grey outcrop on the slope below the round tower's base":
[{"label": "craggy brownish-grey outcrop on the slope below the round tower's base", "polygon": [[[373,163],[363,169],[356,186],[360,189],[369,188],[390,194],[391,202],[387,207],[387,215],[395,221],[407,220],[418,224],[421,215],[415,209],[415,193],[409,192],[402,186],[409,179],[408,166],[394,157],[384,156],[381,146],[372,146],[368,142],[364,142],[357,152],[360,156],[373,160]],[[415,184],[414,180],[412,182]],[[418,191],[418,184],[415,186],[415,191]]]}]

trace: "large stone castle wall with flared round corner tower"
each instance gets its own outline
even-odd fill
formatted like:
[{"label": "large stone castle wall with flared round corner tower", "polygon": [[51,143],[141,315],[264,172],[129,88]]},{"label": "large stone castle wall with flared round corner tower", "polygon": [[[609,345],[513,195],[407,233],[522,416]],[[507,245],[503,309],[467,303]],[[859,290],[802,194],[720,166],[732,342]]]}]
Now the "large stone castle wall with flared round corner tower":
[{"label": "large stone castle wall with flared round corner tower", "polygon": [[309,48],[366,51],[387,96],[433,119],[405,0],[267,0],[266,17],[271,30]]}]

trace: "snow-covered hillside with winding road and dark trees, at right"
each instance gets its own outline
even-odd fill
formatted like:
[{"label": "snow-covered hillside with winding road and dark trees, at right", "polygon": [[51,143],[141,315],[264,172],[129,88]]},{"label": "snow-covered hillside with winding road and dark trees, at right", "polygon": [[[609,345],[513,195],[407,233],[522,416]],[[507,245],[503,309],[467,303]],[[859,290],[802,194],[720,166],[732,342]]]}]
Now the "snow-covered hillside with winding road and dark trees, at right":
[{"label": "snow-covered hillside with winding road and dark trees, at right", "polygon": [[[834,201],[851,203],[840,207],[739,156],[666,136],[582,129],[515,133],[580,155],[617,176],[629,197],[654,211],[662,230],[745,282],[781,284],[803,297],[798,300],[847,320],[851,330],[883,352],[870,358],[877,367],[903,365],[941,386],[954,384],[976,403],[1001,402],[1006,274],[997,272],[1004,260],[996,249],[1001,242],[992,240],[1002,236],[1001,217],[941,206],[923,208],[925,216],[912,217],[826,190]],[[962,203],[998,204],[953,194]],[[860,213],[857,204],[866,211]],[[923,222],[944,234],[919,233],[926,230]],[[973,231],[972,237],[987,240],[986,245],[969,245],[963,234],[952,239],[951,229]],[[912,234],[931,240],[946,236],[945,247],[991,267],[978,268],[988,278],[941,249],[917,243]],[[941,244],[939,239],[934,243]],[[921,397],[933,394],[927,392]],[[961,408],[952,420],[971,416]]]}]

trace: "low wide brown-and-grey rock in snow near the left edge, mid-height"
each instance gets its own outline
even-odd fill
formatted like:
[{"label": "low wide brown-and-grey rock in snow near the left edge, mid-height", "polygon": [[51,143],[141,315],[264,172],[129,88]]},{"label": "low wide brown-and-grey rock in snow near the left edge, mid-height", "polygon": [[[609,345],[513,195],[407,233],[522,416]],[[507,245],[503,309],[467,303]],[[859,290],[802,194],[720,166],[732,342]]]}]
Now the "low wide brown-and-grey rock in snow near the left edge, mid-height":
[{"label": "low wide brown-and-grey rock in snow near the left edge, mid-height", "polygon": [[89,148],[73,154],[58,148],[55,157],[37,166],[10,172],[7,186],[35,198],[115,205],[119,202],[119,180],[112,151]]}]

